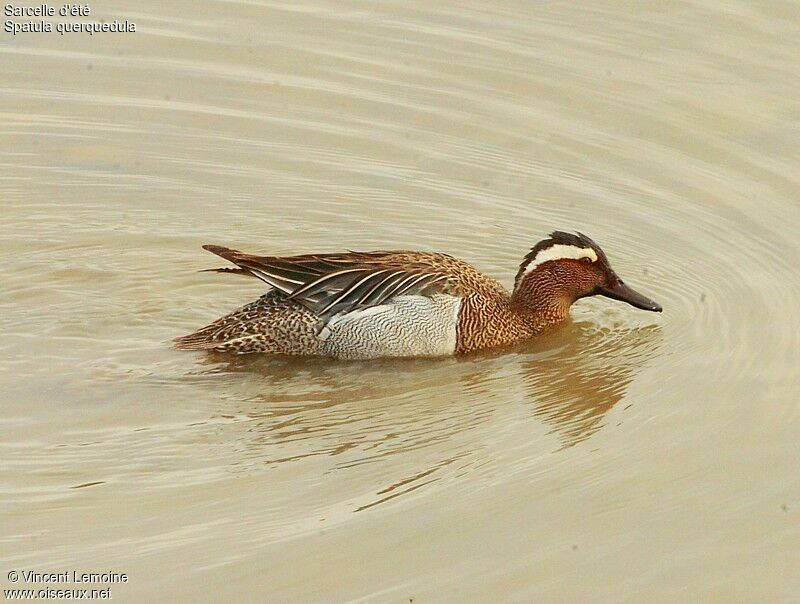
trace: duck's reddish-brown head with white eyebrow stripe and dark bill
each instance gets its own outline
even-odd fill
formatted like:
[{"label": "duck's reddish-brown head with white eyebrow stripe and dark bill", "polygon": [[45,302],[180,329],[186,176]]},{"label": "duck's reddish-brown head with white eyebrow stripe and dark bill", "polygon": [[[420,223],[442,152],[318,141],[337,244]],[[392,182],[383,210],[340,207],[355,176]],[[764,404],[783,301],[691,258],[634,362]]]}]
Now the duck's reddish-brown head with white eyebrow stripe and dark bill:
[{"label": "duck's reddish-brown head with white eyebrow stripe and dark bill", "polygon": [[525,256],[514,280],[514,299],[527,306],[569,306],[587,296],[605,296],[661,312],[661,305],[626,285],[603,250],[586,235],[555,231]]}]

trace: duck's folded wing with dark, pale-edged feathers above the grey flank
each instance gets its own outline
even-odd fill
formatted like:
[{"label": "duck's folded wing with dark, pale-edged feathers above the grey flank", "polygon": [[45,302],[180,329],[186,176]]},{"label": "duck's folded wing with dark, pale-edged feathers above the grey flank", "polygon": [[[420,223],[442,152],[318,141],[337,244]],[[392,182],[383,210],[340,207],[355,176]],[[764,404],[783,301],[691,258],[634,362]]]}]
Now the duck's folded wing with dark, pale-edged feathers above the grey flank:
[{"label": "duck's folded wing with dark, pale-edged feathers above the grey flank", "polygon": [[459,265],[477,273],[450,256],[426,252],[253,256],[217,245],[203,248],[238,267],[217,270],[258,277],[323,318],[377,306],[404,294],[463,295],[467,284]]}]

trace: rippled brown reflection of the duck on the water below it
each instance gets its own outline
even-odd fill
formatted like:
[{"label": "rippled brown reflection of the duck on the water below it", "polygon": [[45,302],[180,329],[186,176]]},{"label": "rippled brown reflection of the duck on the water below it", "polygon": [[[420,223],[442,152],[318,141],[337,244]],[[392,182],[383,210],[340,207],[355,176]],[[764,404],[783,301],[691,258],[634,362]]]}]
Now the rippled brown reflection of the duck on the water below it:
[{"label": "rippled brown reflection of the duck on the water below it", "polygon": [[[316,458],[327,460],[322,473],[390,468],[380,479],[386,486],[373,487],[372,499],[354,508],[360,510],[491,465],[497,434],[530,440],[544,422],[559,447],[589,438],[657,353],[660,336],[656,327],[606,330],[583,322],[525,347],[463,359],[208,362],[213,373],[246,377],[221,410],[247,420],[240,466]],[[393,463],[381,465],[387,458]],[[337,481],[346,483],[346,474]]]}]

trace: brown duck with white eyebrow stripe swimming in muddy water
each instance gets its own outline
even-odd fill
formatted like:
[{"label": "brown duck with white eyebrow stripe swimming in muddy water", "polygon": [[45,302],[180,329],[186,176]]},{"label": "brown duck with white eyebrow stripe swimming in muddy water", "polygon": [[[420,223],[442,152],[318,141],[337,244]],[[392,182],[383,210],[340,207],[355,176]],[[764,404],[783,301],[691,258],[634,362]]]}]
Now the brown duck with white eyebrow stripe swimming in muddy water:
[{"label": "brown duck with white eyebrow stripe swimming in muddy water", "polygon": [[577,300],[605,296],[650,312],[662,307],[631,288],[582,233],[554,231],[525,255],[508,291],[443,253],[370,251],[256,256],[204,249],[269,290],[175,339],[183,350],[356,360],[460,356],[535,337]]}]

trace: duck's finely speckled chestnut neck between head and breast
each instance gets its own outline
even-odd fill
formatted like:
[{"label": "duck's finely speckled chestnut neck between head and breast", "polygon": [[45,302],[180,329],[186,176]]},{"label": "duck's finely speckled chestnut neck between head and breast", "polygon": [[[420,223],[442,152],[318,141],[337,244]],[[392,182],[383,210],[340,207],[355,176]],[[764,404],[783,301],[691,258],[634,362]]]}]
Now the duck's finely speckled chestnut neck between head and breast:
[{"label": "duck's finely speckled chestnut neck between head and breast", "polygon": [[511,294],[511,308],[535,333],[569,316],[572,297],[548,271],[523,276]]}]

